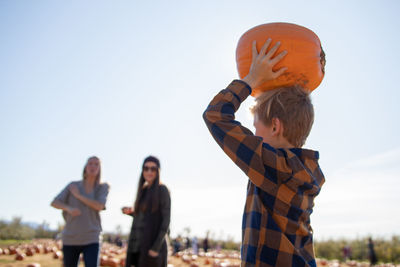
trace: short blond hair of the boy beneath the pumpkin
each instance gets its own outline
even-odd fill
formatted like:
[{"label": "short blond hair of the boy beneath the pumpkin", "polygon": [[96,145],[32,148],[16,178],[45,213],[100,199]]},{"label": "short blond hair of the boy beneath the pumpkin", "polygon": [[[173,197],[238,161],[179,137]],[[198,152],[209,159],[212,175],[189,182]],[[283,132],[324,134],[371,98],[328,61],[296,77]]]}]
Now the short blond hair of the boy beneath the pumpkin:
[{"label": "short blond hair of the boy beneath the pumpkin", "polygon": [[300,86],[264,92],[257,97],[251,112],[266,126],[278,118],[283,124],[283,136],[295,147],[304,145],[314,122],[310,93]]}]

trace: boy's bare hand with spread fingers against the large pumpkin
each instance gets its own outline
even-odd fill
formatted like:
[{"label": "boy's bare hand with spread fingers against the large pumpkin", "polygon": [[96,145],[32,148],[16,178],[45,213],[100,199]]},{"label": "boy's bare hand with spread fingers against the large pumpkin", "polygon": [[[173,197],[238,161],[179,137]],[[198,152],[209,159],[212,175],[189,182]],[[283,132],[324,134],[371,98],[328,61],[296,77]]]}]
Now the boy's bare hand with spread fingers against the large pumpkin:
[{"label": "boy's bare hand with spread fingers against the large pumpkin", "polygon": [[270,44],[271,38],[268,38],[268,40],[261,48],[260,53],[258,53],[256,41],[253,41],[253,59],[251,62],[249,74],[247,74],[247,76],[243,78],[243,81],[246,82],[252,89],[260,86],[261,84],[269,80],[278,78],[287,70],[286,67],[280,68],[277,71],[272,70],[272,68],[279,61],[281,61],[284,56],[286,56],[287,51],[282,51],[281,53],[279,53],[279,55],[273,58],[273,55],[280,46],[280,42],[277,42],[269,51],[267,51]]}]

